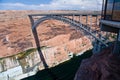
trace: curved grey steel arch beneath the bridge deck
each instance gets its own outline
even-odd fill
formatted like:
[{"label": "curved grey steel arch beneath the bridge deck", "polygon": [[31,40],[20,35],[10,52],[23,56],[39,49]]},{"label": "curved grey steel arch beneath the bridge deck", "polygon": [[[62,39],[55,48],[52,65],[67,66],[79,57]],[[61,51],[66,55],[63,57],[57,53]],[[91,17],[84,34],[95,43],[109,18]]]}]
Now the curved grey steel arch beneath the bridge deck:
[{"label": "curved grey steel arch beneath the bridge deck", "polygon": [[[68,23],[68,24],[76,27],[77,29],[82,29],[84,32],[91,35],[93,38],[95,38],[101,44],[105,45],[106,47],[108,46],[104,41],[102,41],[99,37],[96,36],[96,34],[98,34],[98,33],[95,33],[95,31],[91,30],[90,28],[87,28],[85,25],[81,24],[80,22],[78,22],[76,20],[73,20],[73,19],[70,19],[70,18],[67,18],[67,17],[63,17],[63,16],[45,16],[45,17],[42,17],[42,18],[38,19],[37,21],[34,22],[34,24],[32,24],[33,33],[35,32],[37,26],[40,23],[42,23],[45,20],[49,20],[49,19],[63,21],[65,23]],[[100,37],[102,37],[102,36],[100,35]],[[102,37],[102,38],[105,39],[104,37]]]}]

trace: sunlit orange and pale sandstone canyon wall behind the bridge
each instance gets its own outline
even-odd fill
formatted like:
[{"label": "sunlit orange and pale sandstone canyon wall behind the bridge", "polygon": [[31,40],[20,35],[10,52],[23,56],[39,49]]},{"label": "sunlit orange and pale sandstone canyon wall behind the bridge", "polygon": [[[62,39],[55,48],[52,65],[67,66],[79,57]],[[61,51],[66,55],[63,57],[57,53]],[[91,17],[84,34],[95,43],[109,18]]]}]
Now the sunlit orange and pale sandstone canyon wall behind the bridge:
[{"label": "sunlit orange and pale sandstone canyon wall behind the bridge", "polygon": [[[14,67],[19,67],[23,73],[33,70],[35,66],[39,66],[39,70],[44,69],[36,51],[31,23],[28,18],[29,14],[42,12],[44,11],[0,11],[0,72]],[[81,22],[85,24],[84,16]],[[96,18],[93,19],[92,28],[99,30],[96,28],[98,26],[95,25],[95,22]],[[88,23],[90,24],[90,19]],[[37,27],[37,33],[42,53],[49,67],[69,60],[73,55],[81,55],[92,48],[90,39],[82,31],[58,20],[51,19],[42,22]]]}]

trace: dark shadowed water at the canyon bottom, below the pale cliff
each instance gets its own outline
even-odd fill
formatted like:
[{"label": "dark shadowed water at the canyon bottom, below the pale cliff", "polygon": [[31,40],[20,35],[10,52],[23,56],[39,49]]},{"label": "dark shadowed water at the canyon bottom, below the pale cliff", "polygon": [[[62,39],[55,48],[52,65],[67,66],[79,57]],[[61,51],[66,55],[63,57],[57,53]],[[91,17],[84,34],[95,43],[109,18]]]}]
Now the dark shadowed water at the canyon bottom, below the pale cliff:
[{"label": "dark shadowed water at the canyon bottom, below the pale cliff", "polygon": [[74,56],[66,62],[52,68],[41,70],[37,72],[36,75],[22,80],[74,80],[75,73],[81,64],[81,61],[85,58],[89,58],[91,55],[92,50],[86,51],[80,56]]}]

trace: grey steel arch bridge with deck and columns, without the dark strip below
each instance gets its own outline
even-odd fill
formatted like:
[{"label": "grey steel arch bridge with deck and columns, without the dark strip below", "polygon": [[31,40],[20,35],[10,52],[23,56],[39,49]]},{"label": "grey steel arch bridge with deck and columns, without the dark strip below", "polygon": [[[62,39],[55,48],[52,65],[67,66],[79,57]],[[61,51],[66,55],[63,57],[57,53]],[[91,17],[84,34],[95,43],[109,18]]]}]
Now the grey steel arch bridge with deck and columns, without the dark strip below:
[{"label": "grey steel arch bridge with deck and columns, without the dark strip below", "polygon": [[[38,20],[36,18],[36,21],[33,19],[33,17],[39,16]],[[99,26],[99,19],[100,19],[100,14],[78,14],[78,13],[67,13],[67,14],[34,14],[34,15],[29,15],[30,19],[31,19],[31,23],[32,23],[32,29],[34,30],[36,28],[36,26],[41,23],[44,20],[48,20],[48,19],[57,19],[60,21],[63,21],[65,23],[68,23],[72,26],[74,26],[74,28],[76,30],[82,30],[85,35],[91,35],[92,37],[89,37],[90,40],[93,42],[96,42],[96,44],[100,44],[100,45],[104,45],[104,46],[108,46],[107,42],[109,41],[106,37],[102,36],[102,33],[100,31],[100,27]],[[81,18],[81,17],[86,17]],[[93,28],[93,21],[92,21],[92,17],[96,18],[95,22],[95,29]],[[99,18],[98,18],[99,17]],[[89,19],[89,21],[88,21]],[[82,20],[84,20],[82,22]],[[88,23],[89,22],[89,23]],[[96,31],[97,28],[97,31]],[[97,40],[97,41],[95,41]],[[98,43],[99,42],[99,43]],[[99,46],[96,46],[99,47]]]}]

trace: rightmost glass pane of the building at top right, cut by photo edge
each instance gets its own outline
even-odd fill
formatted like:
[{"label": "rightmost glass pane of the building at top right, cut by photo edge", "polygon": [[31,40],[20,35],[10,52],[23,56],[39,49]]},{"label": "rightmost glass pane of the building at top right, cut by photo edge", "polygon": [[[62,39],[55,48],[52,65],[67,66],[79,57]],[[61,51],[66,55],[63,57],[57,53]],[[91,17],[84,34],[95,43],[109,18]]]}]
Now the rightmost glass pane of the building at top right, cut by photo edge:
[{"label": "rightmost glass pane of the building at top right, cut by photo edge", "polygon": [[113,20],[120,21],[120,0],[115,0]]}]

